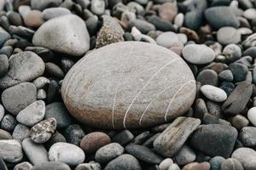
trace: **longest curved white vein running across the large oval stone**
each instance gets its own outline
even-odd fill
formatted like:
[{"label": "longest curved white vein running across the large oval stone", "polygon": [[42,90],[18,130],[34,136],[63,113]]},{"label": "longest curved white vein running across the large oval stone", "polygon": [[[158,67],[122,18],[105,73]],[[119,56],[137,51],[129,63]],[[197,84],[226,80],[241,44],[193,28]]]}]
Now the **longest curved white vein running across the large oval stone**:
[{"label": "longest curved white vein running across the large oval stone", "polygon": [[153,80],[153,78],[154,78],[160,71],[162,71],[164,68],[166,68],[166,66],[171,65],[173,62],[177,61],[178,59],[179,59],[179,58],[177,58],[177,59],[172,59],[172,61],[170,61],[170,62],[167,63],[166,65],[162,66],[158,71],[156,71],[156,72],[154,73],[154,75],[153,75],[152,77],[150,77],[150,79],[148,80],[148,82],[143,86],[143,88],[139,91],[139,93],[135,96],[135,98],[131,100],[131,104],[129,105],[127,111],[125,112],[124,121],[123,121],[123,126],[124,126],[124,128],[126,128],[126,127],[125,127],[125,119],[126,119],[126,117],[127,117],[127,114],[128,114],[128,112],[129,112],[129,110],[131,109],[131,105],[133,105],[133,103],[135,102],[135,100],[137,99],[137,97],[138,97],[140,94],[143,93],[143,90],[148,86],[149,82],[151,82],[151,80]]}]

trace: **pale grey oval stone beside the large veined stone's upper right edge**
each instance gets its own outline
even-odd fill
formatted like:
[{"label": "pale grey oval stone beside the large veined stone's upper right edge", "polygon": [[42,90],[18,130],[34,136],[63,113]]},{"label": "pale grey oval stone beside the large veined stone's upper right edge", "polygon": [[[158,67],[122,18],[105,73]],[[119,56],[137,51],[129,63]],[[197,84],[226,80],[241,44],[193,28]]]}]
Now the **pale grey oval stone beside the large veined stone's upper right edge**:
[{"label": "pale grey oval stone beside the large veined stone's upper right edge", "polygon": [[192,64],[205,65],[215,59],[215,53],[206,45],[189,44],[183,48],[183,57]]}]

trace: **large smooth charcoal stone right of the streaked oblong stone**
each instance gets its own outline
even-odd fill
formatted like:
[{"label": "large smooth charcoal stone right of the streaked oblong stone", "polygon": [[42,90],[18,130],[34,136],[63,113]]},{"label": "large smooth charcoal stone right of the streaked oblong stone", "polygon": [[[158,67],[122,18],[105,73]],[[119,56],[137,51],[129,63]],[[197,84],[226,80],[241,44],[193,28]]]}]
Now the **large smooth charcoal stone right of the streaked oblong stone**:
[{"label": "large smooth charcoal stone right of the streaked oblong stone", "polygon": [[201,125],[190,138],[190,144],[207,156],[229,157],[237,137],[235,127],[219,124]]}]

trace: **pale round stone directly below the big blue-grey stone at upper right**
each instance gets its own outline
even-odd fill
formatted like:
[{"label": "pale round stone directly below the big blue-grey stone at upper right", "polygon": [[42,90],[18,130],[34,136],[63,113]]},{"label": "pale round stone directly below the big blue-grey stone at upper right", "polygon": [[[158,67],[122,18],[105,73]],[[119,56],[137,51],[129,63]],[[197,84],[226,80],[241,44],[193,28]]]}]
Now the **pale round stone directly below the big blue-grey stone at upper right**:
[{"label": "pale round stone directly below the big blue-grey stone at upper right", "polygon": [[222,27],[217,32],[218,42],[227,45],[241,41],[241,33],[233,27]]}]

